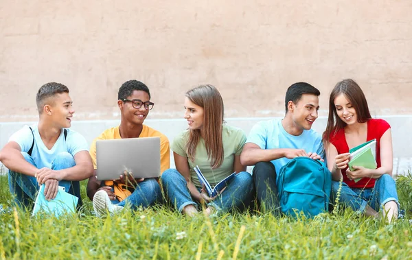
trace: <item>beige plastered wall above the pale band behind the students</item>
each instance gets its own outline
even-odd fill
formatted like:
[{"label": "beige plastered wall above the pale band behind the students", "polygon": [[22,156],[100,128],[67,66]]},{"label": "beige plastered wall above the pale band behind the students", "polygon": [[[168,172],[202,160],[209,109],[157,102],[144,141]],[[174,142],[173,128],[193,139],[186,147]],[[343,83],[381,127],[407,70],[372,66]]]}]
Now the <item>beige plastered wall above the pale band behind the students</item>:
[{"label": "beige plastered wall above the pale band behind the students", "polygon": [[0,1],[0,121],[34,121],[45,82],[69,86],[76,119],[118,119],[117,89],[145,82],[150,118],[216,85],[227,117],[284,113],[286,88],[363,87],[374,115],[412,114],[412,1]]}]

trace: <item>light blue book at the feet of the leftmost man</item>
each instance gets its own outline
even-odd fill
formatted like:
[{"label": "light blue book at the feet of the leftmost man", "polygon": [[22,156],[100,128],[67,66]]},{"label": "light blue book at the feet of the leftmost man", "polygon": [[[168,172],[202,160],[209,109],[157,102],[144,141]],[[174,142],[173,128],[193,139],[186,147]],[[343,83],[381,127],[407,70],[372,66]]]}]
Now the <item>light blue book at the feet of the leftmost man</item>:
[{"label": "light blue book at the feet of the leftmost man", "polygon": [[52,213],[56,216],[64,213],[76,212],[79,198],[65,191],[64,187],[58,187],[58,192],[54,200],[47,201],[45,198],[45,185],[41,185],[38,191],[36,202],[34,202],[33,215],[38,212]]}]

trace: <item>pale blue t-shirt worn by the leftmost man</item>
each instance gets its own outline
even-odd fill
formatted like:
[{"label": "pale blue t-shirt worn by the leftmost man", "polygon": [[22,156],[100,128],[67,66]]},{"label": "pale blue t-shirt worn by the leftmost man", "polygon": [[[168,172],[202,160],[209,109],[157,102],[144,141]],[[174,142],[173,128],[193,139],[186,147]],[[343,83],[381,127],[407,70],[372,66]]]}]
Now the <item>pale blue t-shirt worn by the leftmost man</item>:
[{"label": "pale blue t-shirt worn by the leftmost man", "polygon": [[[72,156],[80,151],[88,151],[86,139],[78,132],[67,129],[67,137],[65,140],[64,131],[60,132],[56,143],[49,150],[38,133],[37,123],[32,126],[34,134],[34,147],[32,150],[32,158],[38,169],[47,167],[52,168],[52,162],[60,152],[69,152]],[[14,141],[20,145],[21,152],[29,152],[33,143],[33,134],[30,132],[29,126],[24,126],[21,130],[15,132],[10,137],[9,141]]]}]

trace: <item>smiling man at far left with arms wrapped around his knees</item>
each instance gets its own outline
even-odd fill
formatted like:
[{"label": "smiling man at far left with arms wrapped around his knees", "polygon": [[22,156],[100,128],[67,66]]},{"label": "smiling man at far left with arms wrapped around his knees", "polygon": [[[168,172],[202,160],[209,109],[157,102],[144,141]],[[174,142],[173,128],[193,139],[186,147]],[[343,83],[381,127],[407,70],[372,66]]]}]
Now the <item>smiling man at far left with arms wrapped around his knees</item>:
[{"label": "smiling man at far left with arms wrapped around his knees", "polygon": [[43,184],[46,200],[56,198],[62,186],[82,204],[79,180],[93,175],[93,163],[84,137],[67,129],[74,113],[72,103],[67,86],[44,84],[36,95],[38,123],[15,132],[0,151],[18,206],[32,206]]}]

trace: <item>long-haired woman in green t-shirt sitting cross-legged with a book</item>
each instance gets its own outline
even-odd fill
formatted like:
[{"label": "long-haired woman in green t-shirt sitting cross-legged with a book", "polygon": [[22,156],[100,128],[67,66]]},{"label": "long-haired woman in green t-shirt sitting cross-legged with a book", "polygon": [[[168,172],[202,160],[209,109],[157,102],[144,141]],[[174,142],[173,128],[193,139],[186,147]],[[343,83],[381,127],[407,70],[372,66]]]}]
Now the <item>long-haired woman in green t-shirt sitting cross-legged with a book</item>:
[{"label": "long-haired woman in green t-shirt sitting cross-legged with a book", "polygon": [[[223,100],[211,85],[201,85],[185,95],[185,119],[188,128],[173,141],[176,169],[163,172],[165,195],[181,213],[194,215],[199,205],[204,213],[245,209],[252,200],[252,177],[240,163],[246,135],[239,128],[226,126]],[[210,197],[198,180],[198,165],[213,187],[236,172],[217,196]]]}]

